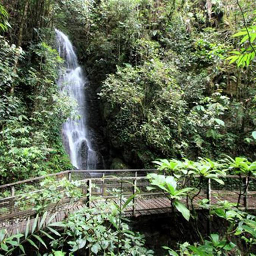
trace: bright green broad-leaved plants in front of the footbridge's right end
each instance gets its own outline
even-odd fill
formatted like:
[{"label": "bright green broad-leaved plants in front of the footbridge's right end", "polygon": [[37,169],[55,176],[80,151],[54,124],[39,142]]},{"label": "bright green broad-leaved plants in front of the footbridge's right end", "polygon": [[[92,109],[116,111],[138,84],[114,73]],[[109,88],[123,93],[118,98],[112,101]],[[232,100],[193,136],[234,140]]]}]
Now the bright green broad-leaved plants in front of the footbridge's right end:
[{"label": "bright green broad-leaved plants in front of the footbridge's right end", "polygon": [[[241,196],[245,195],[247,185],[243,186],[243,178],[249,178],[256,175],[255,164],[250,163],[247,159],[237,157],[236,159],[223,159],[213,162],[210,159],[201,159],[200,161],[184,161],[177,160],[160,160],[155,162],[159,166],[159,172],[163,174],[149,174],[151,186],[148,188],[158,189],[170,199],[170,204],[180,212],[187,221],[194,223],[194,230],[198,235],[200,242],[184,242],[178,244],[178,250],[173,250],[164,246],[163,248],[169,252],[169,255],[251,255],[255,244],[255,216],[240,210]],[[224,186],[227,174],[239,174],[240,176],[240,194],[238,195],[238,203],[230,203],[229,201],[217,200],[217,203],[211,203],[209,199],[194,201],[200,195],[205,184],[202,179],[216,181]],[[171,175],[171,176],[170,176]],[[242,175],[242,176],[241,176]],[[188,178],[189,177],[189,178]],[[193,180],[199,180],[194,183]],[[191,183],[192,181],[192,183]],[[191,187],[187,187],[190,184]],[[181,203],[186,202],[186,205]],[[187,199],[187,200],[186,200]],[[188,200],[190,199],[190,200]],[[210,234],[209,238],[205,238],[203,232],[198,226],[198,212],[195,208],[201,207],[208,211],[208,220],[214,217],[225,220],[223,234]],[[191,216],[191,218],[190,218]],[[192,219],[192,220],[190,220]],[[211,230],[208,230],[210,232]],[[244,240],[246,246],[236,244],[237,241]]]}]

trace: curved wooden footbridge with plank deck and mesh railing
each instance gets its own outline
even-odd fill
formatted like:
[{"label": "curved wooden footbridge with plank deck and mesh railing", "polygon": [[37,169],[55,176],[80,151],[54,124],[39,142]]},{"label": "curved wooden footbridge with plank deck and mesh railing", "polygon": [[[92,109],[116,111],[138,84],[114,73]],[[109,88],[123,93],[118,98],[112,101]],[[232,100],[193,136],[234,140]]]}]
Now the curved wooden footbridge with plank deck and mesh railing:
[{"label": "curved wooden footbridge with plank deck and mesh railing", "polygon": [[[55,213],[53,222],[63,220],[69,213],[83,208],[97,207],[100,201],[122,201],[133,196],[132,204],[124,214],[138,217],[149,214],[168,214],[170,200],[161,192],[147,190],[147,174],[157,170],[72,170],[47,176],[31,178],[0,186],[0,230],[5,228],[8,234],[25,231],[28,217],[31,225],[39,211],[48,211],[49,217]],[[67,182],[67,181],[70,181]],[[231,182],[232,181],[232,182]],[[247,180],[244,180],[245,184]],[[241,177],[225,177],[225,186],[208,180],[198,193],[196,202],[208,198],[212,204],[218,200],[237,203],[240,193]],[[71,184],[71,185],[70,185]],[[242,195],[242,206],[256,209],[256,180],[251,179],[250,186]],[[186,201],[184,201],[186,203]],[[198,206],[199,207],[199,206]]]}]

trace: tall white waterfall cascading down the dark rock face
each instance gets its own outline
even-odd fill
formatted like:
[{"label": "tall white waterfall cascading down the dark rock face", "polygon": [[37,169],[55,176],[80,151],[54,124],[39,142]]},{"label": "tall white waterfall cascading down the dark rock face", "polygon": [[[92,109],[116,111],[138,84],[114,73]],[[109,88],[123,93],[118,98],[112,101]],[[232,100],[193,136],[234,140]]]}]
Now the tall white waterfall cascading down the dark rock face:
[{"label": "tall white waterfall cascading down the dark rock face", "polygon": [[55,32],[59,55],[65,60],[66,66],[66,72],[60,76],[58,85],[61,90],[65,90],[70,97],[76,100],[78,103],[76,110],[79,114],[78,119],[68,119],[63,124],[63,143],[73,166],[77,169],[95,170],[97,153],[92,148],[86,119],[85,85],[87,80],[78,65],[78,58],[68,36],[58,29],[55,29]]}]

